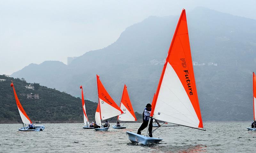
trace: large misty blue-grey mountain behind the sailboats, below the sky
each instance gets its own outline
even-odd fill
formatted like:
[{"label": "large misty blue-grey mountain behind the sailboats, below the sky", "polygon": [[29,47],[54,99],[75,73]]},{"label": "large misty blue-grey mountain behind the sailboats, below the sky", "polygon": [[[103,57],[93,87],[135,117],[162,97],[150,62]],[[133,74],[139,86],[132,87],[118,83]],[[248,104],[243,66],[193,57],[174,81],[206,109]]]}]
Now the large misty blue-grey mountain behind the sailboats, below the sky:
[{"label": "large misty blue-grey mountain behind the sailboats, below the sky", "polygon": [[[106,48],[86,52],[70,65],[30,64],[12,74],[28,82],[98,101],[96,74],[118,104],[124,84],[135,111],[151,103],[179,16],[148,17]],[[203,120],[252,120],[252,71],[256,70],[256,21],[198,7],[187,12],[196,87]]]}]

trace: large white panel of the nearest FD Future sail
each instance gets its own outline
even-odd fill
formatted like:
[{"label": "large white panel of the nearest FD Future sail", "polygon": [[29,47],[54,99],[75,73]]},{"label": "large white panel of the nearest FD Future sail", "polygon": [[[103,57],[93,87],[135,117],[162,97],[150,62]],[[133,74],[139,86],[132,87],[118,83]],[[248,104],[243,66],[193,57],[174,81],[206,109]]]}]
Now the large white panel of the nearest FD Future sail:
[{"label": "large white panel of the nearest FD Future sail", "polygon": [[188,127],[198,128],[199,125],[199,119],[188,94],[169,62],[167,62],[153,117]]}]

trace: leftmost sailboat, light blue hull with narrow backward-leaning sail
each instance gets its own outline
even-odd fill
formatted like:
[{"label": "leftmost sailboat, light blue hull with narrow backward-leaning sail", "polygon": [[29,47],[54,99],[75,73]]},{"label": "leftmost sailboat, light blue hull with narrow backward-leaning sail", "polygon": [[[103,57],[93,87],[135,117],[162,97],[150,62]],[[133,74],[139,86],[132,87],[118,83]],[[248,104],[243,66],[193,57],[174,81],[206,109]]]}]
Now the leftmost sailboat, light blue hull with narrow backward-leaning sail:
[{"label": "leftmost sailboat, light blue hull with narrow backward-leaning sail", "polygon": [[[20,118],[22,120],[22,124],[23,124],[23,128],[20,128],[19,131],[43,131],[45,126],[44,125],[34,125],[31,120],[29,119],[27,113],[25,112],[25,110],[23,109],[18,96],[16,94],[13,82],[11,83],[11,87],[13,89],[13,93],[14,93],[14,97],[16,100],[16,104],[20,113]],[[25,124],[25,125],[24,125]],[[28,124],[28,126],[26,127],[26,124]]]}]

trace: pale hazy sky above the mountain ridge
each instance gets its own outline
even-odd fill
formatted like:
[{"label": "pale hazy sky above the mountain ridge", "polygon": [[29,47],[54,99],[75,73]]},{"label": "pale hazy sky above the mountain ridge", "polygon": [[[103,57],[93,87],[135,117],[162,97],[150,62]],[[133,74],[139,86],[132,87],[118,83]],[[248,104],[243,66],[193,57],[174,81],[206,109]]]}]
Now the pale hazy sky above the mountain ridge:
[{"label": "pale hazy sky above the mountain ridge", "polygon": [[148,16],[197,6],[256,18],[256,1],[0,1],[0,74],[106,47]]}]

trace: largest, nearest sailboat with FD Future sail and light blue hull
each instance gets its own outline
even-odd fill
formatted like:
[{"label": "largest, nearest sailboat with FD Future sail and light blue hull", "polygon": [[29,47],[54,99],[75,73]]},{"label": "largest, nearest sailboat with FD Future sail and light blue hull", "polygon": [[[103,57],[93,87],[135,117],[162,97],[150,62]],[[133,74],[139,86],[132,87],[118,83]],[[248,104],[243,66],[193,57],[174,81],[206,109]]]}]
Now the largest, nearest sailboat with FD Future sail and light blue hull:
[{"label": "largest, nearest sailboat with FD Future sail and light blue hull", "polygon": [[[185,9],[181,12],[174,32],[151,108],[149,122],[155,118],[205,130],[196,91]],[[143,145],[162,141],[160,138],[148,137],[148,128],[144,136],[129,131],[126,133],[131,142]]]}]

